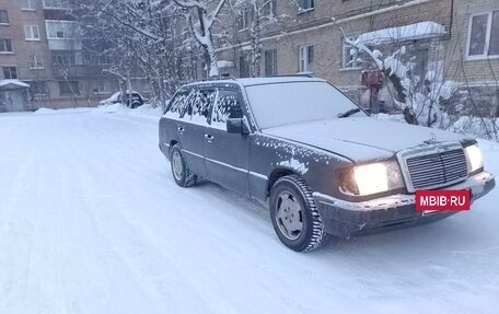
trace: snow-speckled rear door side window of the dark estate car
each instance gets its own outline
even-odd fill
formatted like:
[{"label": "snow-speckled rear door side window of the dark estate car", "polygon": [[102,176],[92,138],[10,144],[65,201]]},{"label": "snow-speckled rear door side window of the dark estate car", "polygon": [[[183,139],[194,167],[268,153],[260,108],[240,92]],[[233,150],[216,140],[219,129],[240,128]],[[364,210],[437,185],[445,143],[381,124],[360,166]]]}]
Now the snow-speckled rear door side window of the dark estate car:
[{"label": "snow-speckled rear door side window of the dark estate car", "polygon": [[217,98],[214,89],[195,89],[190,92],[187,101],[187,113],[185,119],[197,124],[208,124],[210,107]]}]

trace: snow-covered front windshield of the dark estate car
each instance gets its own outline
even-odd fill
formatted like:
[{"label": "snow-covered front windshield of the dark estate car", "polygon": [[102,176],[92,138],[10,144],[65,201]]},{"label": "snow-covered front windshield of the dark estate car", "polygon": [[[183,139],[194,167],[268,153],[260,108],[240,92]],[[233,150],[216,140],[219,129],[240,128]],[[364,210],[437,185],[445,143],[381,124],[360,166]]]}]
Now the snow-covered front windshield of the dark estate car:
[{"label": "snow-covered front windshield of the dark estate car", "polygon": [[[260,129],[337,118],[358,108],[327,82],[289,82],[246,86]],[[365,116],[363,112],[355,115]]]}]

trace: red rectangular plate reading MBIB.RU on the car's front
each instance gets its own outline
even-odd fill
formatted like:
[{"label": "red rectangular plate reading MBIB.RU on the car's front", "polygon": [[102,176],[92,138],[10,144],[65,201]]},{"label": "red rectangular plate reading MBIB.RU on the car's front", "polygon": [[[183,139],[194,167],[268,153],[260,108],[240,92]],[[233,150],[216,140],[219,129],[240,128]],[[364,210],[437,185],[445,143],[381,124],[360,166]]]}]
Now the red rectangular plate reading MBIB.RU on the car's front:
[{"label": "red rectangular plate reading MBIB.RU on the car's front", "polygon": [[417,190],[416,210],[469,210],[469,190]]}]

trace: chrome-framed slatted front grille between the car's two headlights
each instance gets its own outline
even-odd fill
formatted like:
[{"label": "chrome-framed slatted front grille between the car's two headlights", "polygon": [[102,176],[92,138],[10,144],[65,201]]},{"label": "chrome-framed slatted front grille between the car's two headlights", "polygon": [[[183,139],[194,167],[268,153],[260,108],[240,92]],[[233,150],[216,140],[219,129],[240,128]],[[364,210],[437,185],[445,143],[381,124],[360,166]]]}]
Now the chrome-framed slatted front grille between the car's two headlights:
[{"label": "chrome-framed slatted front grille between the car's two headlights", "polygon": [[462,149],[408,156],[405,161],[413,191],[443,187],[467,178],[466,158]]}]

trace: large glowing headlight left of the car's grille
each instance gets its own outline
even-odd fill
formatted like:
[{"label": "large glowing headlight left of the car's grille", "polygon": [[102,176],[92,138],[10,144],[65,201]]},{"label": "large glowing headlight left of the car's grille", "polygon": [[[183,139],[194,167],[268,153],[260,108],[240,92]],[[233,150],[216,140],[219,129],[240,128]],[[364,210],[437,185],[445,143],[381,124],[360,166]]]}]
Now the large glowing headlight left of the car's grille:
[{"label": "large glowing headlight left of the car's grille", "polygon": [[404,178],[396,162],[381,162],[355,166],[344,173],[341,190],[370,195],[404,187]]}]

